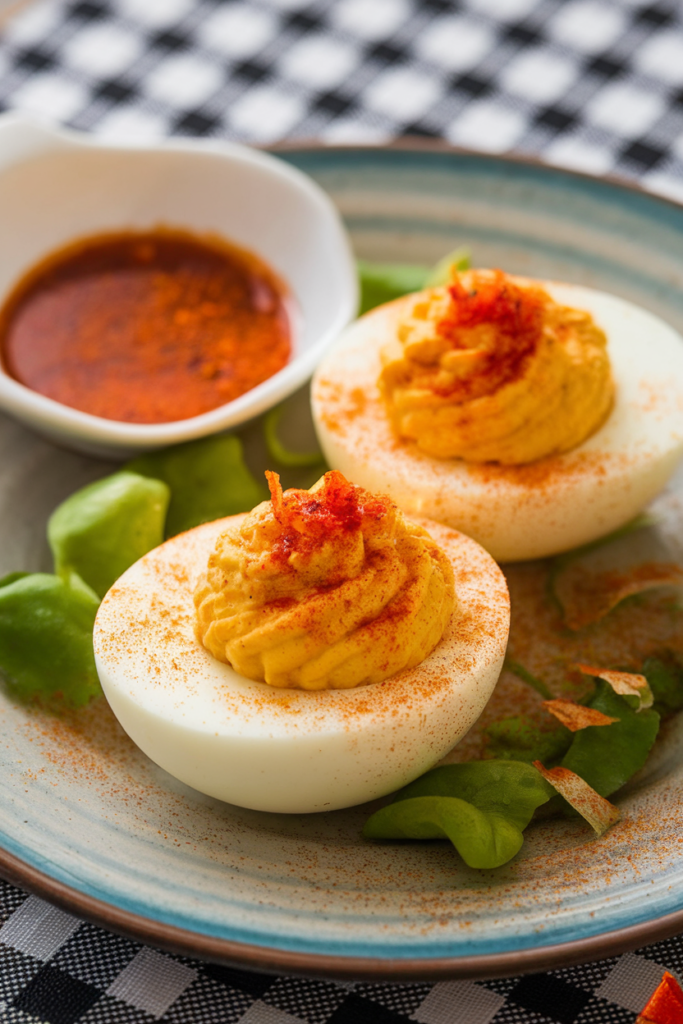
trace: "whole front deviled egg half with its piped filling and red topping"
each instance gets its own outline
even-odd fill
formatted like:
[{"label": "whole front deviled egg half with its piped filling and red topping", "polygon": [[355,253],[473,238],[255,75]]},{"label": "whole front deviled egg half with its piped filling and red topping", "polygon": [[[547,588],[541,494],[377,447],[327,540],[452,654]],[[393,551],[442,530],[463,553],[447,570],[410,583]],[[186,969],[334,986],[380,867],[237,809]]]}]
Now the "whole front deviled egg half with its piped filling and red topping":
[{"label": "whole front deviled egg half with its piped filling and red topping", "polygon": [[432,767],[479,716],[509,629],[505,580],[456,530],[326,474],[207,523],[110,590],[97,670],[123,728],[202,793],[334,810]]}]

